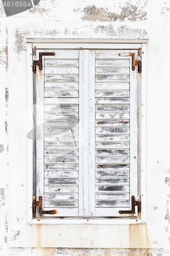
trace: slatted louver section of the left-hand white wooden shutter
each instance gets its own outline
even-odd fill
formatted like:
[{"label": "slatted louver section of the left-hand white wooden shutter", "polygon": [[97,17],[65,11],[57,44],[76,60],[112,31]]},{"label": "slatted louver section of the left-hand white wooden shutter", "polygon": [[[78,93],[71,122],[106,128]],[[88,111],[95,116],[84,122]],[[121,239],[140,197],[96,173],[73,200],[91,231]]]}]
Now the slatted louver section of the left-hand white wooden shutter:
[{"label": "slatted louver section of the left-hand white wooden shutter", "polygon": [[56,55],[45,56],[40,73],[40,82],[44,83],[43,148],[41,145],[44,168],[43,178],[39,177],[42,186],[44,179],[44,190],[41,189],[41,195],[44,210],[57,209],[58,217],[78,216],[79,51],[50,52]]}]

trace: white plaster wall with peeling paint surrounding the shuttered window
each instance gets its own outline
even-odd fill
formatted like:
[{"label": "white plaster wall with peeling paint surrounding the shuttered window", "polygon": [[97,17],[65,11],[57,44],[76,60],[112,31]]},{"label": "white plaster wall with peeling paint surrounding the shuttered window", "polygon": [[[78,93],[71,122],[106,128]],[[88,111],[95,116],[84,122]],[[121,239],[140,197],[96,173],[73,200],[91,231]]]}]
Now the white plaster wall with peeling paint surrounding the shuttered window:
[{"label": "white plaster wall with peeling paint surrounding the shuttered window", "polygon": [[[26,37],[43,38],[149,38],[147,66],[147,226],[115,226],[116,247],[168,249],[170,253],[170,150],[169,150],[169,32],[170,4],[163,0],[71,1],[41,0],[33,9],[6,17],[0,3],[0,255],[50,256],[71,254],[62,248],[76,243],[85,232],[86,241],[77,254],[107,254],[103,238],[90,236],[90,227],[70,237],[65,227],[34,227],[27,224],[27,43]],[[29,86],[29,85],[28,85]],[[16,189],[10,189],[12,184]],[[28,232],[26,232],[28,230]],[[108,227],[104,226],[104,234]],[[43,247],[48,233],[57,241]],[[143,235],[144,233],[144,235]],[[26,236],[27,234],[27,236]],[[44,235],[43,235],[44,234]],[[144,239],[143,239],[144,237]],[[91,240],[93,240],[91,242]],[[34,243],[30,242],[33,241]],[[34,245],[32,245],[34,244]],[[82,243],[80,243],[81,245]],[[106,241],[107,244],[107,241]],[[18,248],[20,247],[20,248]],[[46,246],[47,247],[47,246]],[[58,248],[61,247],[61,248]],[[105,246],[106,247],[106,246]],[[112,250],[111,250],[112,251]],[[142,251],[138,252],[142,255]],[[136,253],[136,254],[138,254]],[[119,252],[119,255],[124,254]],[[159,254],[158,251],[152,254]],[[151,254],[150,254],[151,255]]]}]

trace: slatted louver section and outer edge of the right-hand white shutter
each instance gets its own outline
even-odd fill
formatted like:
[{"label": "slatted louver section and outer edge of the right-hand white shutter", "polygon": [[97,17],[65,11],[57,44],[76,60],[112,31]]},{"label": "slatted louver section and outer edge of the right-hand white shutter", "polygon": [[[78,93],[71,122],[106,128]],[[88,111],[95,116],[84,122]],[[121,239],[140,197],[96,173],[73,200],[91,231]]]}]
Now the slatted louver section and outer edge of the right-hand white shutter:
[{"label": "slatted louver section and outer edge of the right-hand white shutter", "polygon": [[[119,53],[123,52],[95,51],[95,207],[96,216],[102,217],[129,209],[130,177],[137,187],[137,164],[130,150],[137,151],[136,71],[131,72],[130,57]],[[136,196],[136,190],[131,194]]]}]

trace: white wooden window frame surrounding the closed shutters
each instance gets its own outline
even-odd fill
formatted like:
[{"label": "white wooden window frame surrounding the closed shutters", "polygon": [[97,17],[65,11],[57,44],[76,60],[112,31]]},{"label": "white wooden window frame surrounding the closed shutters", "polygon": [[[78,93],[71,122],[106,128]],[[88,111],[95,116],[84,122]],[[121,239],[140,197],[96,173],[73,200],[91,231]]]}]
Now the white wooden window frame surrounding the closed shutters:
[{"label": "white wooden window frame surrounding the closed shutters", "polygon": [[[147,42],[148,39],[27,39],[28,56],[28,110],[33,106],[33,49],[121,49],[138,50],[142,52],[142,72],[139,76],[139,117],[140,117],[140,193],[142,210],[140,218],[126,219],[95,219],[87,218],[38,218],[33,219],[32,196],[33,196],[33,140],[28,139],[28,224],[145,224],[147,223],[146,209],[146,75],[147,75]],[[28,113],[28,132],[33,130],[33,115]]]}]

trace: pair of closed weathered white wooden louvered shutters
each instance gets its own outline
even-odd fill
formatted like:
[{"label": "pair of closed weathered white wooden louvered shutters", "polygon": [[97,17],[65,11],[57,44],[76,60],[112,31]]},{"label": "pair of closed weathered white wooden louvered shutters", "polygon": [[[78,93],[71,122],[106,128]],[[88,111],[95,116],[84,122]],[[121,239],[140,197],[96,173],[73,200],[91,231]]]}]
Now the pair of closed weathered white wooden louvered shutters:
[{"label": "pair of closed weathered white wooden louvered shutters", "polygon": [[138,71],[129,54],[138,51],[36,50],[36,60],[39,52],[55,53],[35,73],[42,210],[122,216],[138,196]]}]

